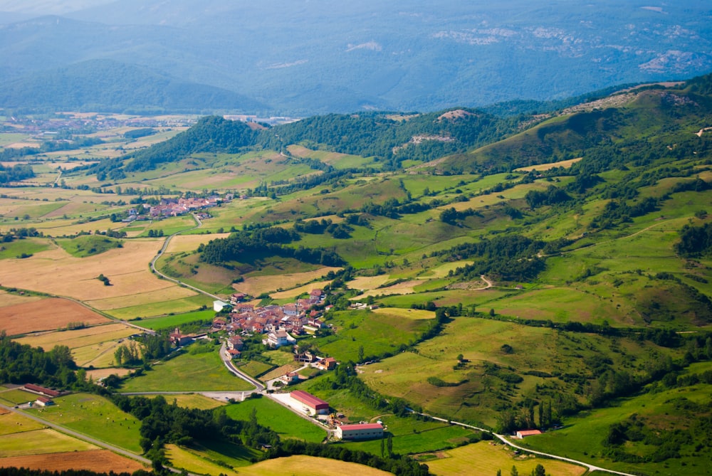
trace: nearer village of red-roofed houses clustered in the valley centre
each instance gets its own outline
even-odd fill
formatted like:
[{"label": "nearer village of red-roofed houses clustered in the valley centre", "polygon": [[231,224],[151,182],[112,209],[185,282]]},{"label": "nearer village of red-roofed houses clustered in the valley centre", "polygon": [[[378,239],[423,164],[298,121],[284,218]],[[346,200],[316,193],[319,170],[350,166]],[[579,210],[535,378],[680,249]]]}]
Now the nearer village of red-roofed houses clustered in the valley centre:
[{"label": "nearer village of red-roofed houses clustered in the valley centre", "polygon": [[[325,326],[320,319],[321,312],[313,309],[323,303],[323,290],[315,289],[309,297],[290,302],[286,305],[255,306],[243,302],[246,295],[236,293],[231,296],[232,311],[226,317],[213,319],[213,330],[226,330],[231,334],[228,349],[233,358],[239,358],[242,348],[242,334],[264,334],[262,343],[277,349],[296,342],[294,335],[316,332]],[[214,304],[224,308],[228,303]]]}]

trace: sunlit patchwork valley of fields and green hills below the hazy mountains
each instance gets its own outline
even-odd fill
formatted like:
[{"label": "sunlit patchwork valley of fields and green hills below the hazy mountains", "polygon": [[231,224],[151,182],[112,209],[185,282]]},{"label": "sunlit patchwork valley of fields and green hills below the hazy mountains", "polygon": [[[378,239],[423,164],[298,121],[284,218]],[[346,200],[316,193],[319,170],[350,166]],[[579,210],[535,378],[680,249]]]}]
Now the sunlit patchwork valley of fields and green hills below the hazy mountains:
[{"label": "sunlit patchwork valley of fields and green hills below the hazy mountains", "polygon": [[[603,474],[539,451],[705,474],[711,82],[517,117],[2,117],[3,355],[41,347],[53,371],[4,361],[0,443],[32,380],[70,393],[27,415],[154,468]],[[328,402],[325,423],[240,401],[224,359]],[[334,420],[384,438],[328,438]],[[493,436],[533,429],[506,437],[523,450]],[[46,458],[16,447],[0,464]]]}]

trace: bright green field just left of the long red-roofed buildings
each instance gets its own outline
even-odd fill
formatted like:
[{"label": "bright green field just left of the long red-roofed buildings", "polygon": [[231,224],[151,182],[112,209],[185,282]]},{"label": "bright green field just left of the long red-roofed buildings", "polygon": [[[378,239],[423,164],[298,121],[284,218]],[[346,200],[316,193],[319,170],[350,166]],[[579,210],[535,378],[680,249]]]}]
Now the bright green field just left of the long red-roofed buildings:
[{"label": "bright green field just left of the long red-roofed buildings", "polygon": [[228,416],[235,420],[248,421],[253,408],[257,411],[258,423],[275,430],[280,438],[296,438],[310,443],[321,443],[326,437],[323,428],[296,415],[271,398],[248,398],[246,401],[228,406],[226,411]]}]

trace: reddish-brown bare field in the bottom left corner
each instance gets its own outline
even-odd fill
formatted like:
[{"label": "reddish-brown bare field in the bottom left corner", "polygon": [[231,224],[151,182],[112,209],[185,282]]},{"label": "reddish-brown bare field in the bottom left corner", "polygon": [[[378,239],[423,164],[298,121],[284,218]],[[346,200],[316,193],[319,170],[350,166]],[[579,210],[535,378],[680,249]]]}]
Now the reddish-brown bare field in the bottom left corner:
[{"label": "reddish-brown bare field in the bottom left corner", "polygon": [[95,472],[133,473],[148,470],[142,463],[110,450],[70,450],[66,453],[0,458],[0,467],[26,467],[31,470],[89,470]]}]

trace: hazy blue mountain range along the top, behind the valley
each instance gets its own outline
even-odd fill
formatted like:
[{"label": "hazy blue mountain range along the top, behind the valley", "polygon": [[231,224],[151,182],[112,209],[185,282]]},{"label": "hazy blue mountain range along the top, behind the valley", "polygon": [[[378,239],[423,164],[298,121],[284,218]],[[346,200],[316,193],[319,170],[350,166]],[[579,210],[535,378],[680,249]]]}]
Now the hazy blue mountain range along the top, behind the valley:
[{"label": "hazy blue mountain range along the top, behind the valley", "polygon": [[[712,12],[698,0],[3,0],[0,12],[0,107],[428,111],[712,69]],[[73,93],[38,94],[58,89]]]}]

